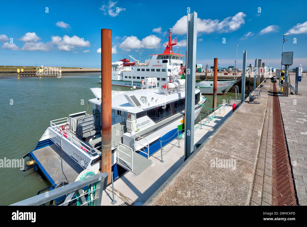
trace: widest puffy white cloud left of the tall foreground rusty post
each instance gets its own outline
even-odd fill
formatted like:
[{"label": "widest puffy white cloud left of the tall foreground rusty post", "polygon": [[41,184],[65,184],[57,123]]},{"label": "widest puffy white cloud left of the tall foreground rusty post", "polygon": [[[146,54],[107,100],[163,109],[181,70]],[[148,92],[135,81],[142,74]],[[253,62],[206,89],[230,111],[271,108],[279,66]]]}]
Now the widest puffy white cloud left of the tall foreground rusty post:
[{"label": "widest puffy white cloud left of the tall foreground rusty post", "polygon": [[52,36],[51,43],[57,45],[57,48],[61,51],[71,51],[76,49],[76,47],[90,46],[90,41],[84,41],[83,38],[77,37],[76,35],[72,37],[64,35],[63,38],[60,36]]}]

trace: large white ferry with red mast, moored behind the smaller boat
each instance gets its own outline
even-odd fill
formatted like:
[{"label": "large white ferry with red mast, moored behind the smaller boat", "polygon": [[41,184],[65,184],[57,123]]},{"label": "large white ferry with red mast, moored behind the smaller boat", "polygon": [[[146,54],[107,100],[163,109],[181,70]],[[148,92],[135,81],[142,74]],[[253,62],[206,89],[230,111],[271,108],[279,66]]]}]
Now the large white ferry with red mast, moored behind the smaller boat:
[{"label": "large white ferry with red mast, moored behind the smaller boat", "polygon": [[[164,84],[166,78],[175,77],[184,78],[185,66],[183,65],[182,54],[173,53],[173,45],[177,45],[177,37],[172,39],[172,33],[169,29],[168,43],[163,53],[150,55],[151,59],[146,59],[144,63],[129,55],[134,61],[122,59],[112,63],[112,85],[141,88],[142,80],[148,77],[157,78],[158,84]],[[226,94],[228,90],[237,82],[237,80],[218,80],[217,94]],[[101,83],[101,76],[99,76]],[[202,94],[213,94],[213,80],[196,81]]]}]

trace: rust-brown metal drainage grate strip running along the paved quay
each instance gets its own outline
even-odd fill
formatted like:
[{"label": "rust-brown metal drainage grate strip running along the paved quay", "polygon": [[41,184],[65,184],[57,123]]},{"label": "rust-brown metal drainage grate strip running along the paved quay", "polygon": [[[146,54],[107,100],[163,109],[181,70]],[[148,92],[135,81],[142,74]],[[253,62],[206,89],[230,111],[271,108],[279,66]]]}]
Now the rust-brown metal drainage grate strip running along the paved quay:
[{"label": "rust-brown metal drainage grate strip running along the paved quay", "polygon": [[273,91],[272,205],[297,205],[276,83]]}]

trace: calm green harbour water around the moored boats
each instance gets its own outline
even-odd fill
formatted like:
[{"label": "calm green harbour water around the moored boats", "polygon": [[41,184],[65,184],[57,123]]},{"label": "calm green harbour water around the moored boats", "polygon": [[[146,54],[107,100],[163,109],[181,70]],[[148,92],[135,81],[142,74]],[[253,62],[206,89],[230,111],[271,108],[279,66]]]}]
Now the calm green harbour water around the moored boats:
[{"label": "calm green harbour water around the moored boats", "polygon": [[[35,148],[50,126],[50,120],[87,111],[88,100],[95,97],[89,88],[100,87],[98,82],[99,73],[64,74],[62,78],[0,76],[0,159],[21,159]],[[130,88],[112,86],[112,90]],[[235,94],[217,96],[217,103],[229,96]],[[212,96],[206,97],[212,101]],[[10,105],[11,100],[13,105]],[[81,105],[81,100],[84,100],[84,105]],[[206,106],[212,108],[209,102]],[[203,108],[201,115],[206,112]],[[33,170],[23,172],[19,168],[0,168],[0,205],[32,197],[47,186],[49,183]]]}]

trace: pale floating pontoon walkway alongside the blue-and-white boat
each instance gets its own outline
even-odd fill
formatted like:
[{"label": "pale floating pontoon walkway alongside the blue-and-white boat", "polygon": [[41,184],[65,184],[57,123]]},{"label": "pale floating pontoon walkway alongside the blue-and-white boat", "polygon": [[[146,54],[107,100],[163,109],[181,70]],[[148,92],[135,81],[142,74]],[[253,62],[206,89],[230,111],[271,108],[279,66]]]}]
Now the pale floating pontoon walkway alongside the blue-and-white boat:
[{"label": "pale floating pontoon walkway alongside the blue-and-white boat", "polygon": [[[209,123],[202,125],[202,127],[200,127],[200,123],[197,123],[195,125],[197,128],[194,131],[194,143],[196,145],[203,143],[231,114],[232,107],[225,106],[225,110],[222,107],[220,112],[216,111],[216,118]],[[210,116],[212,117],[212,114]],[[205,120],[202,117],[203,124]],[[162,159],[164,162],[160,162],[161,152],[157,151],[149,158],[151,165],[141,174],[135,175],[128,172],[116,180],[114,182],[114,194],[117,201],[115,205],[142,205],[145,203],[184,162],[184,138],[185,135],[179,139],[180,146],[178,146],[178,139],[174,139],[163,147]],[[109,185],[105,192],[102,197],[102,205],[112,205],[112,185]]]}]

